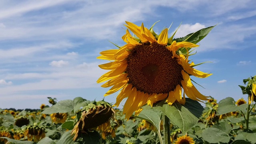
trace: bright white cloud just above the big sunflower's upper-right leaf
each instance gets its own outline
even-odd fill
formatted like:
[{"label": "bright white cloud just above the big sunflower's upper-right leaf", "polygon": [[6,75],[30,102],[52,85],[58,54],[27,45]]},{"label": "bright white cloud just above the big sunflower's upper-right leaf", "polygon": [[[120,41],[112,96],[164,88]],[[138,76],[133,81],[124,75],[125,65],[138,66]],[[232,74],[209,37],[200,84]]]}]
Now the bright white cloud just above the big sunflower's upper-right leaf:
[{"label": "bright white cloud just above the big sunflower's upper-right leaf", "polygon": [[[205,25],[196,23],[196,24],[182,24],[180,28],[177,30],[176,34],[174,35],[175,38],[184,37],[192,32],[196,32],[201,30],[202,28],[206,28]],[[175,30],[174,30],[175,32]],[[174,33],[172,32],[172,34]]]}]

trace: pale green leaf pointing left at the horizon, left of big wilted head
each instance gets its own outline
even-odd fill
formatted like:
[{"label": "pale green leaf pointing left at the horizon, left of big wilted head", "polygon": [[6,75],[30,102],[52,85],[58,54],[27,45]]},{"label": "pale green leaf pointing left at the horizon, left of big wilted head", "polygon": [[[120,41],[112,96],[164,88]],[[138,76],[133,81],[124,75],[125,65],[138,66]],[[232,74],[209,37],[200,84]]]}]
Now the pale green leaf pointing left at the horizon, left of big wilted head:
[{"label": "pale green leaf pointing left at the horizon, left of big wilted head", "polygon": [[42,114],[53,114],[53,113],[66,113],[71,112],[74,109],[73,100],[62,100],[52,107],[45,109]]}]

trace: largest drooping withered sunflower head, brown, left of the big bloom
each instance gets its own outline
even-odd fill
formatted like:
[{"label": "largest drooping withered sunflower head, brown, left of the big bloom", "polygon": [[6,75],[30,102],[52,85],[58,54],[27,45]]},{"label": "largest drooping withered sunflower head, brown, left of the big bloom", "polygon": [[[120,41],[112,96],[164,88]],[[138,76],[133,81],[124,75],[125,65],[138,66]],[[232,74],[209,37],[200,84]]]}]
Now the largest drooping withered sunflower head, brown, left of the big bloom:
[{"label": "largest drooping withered sunflower head, brown, left of the big bloom", "polygon": [[74,141],[78,138],[79,132],[86,132],[91,129],[97,130],[97,128],[104,132],[104,129],[110,129],[110,120],[114,120],[115,110],[108,102],[94,101],[82,108],[77,116],[79,118],[78,122],[72,130],[72,135],[75,135]]}]

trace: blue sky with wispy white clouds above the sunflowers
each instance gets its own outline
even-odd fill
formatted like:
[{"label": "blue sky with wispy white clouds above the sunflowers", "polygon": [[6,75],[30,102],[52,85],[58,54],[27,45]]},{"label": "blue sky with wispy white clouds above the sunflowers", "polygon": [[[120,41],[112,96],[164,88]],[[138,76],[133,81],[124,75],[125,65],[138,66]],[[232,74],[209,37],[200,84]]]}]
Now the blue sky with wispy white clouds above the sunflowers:
[{"label": "blue sky with wispy white clouds above the sunflowers", "polygon": [[[216,25],[190,60],[208,78],[196,88],[218,102],[245,98],[238,85],[256,75],[255,0],[4,0],[0,1],[0,108],[40,108],[47,97],[78,96],[114,103],[117,92],[96,80],[107,70],[99,52],[125,44],[125,21],[174,38]],[[121,104],[124,104],[122,102]]]}]

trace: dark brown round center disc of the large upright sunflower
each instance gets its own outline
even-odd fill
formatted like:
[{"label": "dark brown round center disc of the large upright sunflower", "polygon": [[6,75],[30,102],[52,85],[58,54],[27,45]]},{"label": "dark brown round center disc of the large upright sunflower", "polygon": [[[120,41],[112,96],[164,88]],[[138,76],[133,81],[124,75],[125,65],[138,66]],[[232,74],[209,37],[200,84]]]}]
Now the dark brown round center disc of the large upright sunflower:
[{"label": "dark brown round center disc of the large upright sunflower", "polygon": [[148,94],[173,91],[183,80],[182,66],[157,42],[137,45],[127,58],[129,83]]}]

